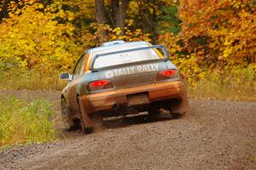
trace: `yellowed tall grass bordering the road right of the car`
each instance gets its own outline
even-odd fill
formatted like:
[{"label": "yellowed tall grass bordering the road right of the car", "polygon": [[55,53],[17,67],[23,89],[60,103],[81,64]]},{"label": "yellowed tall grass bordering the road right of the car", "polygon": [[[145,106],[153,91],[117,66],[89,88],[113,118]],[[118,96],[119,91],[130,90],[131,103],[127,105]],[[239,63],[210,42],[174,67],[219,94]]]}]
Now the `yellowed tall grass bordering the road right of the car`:
[{"label": "yellowed tall grass bordering the road right of the car", "polygon": [[189,98],[256,101],[256,74],[253,69],[207,74],[187,84]]}]

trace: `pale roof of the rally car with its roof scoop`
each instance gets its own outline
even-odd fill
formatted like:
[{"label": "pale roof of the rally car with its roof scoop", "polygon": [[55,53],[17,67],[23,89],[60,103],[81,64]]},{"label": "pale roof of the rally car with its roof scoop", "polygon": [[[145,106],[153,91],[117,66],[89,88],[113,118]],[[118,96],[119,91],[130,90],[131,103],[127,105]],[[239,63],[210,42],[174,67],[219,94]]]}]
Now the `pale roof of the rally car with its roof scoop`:
[{"label": "pale roof of the rally car with its roof scoop", "polygon": [[145,41],[139,41],[139,42],[123,42],[123,41],[113,41],[113,43],[111,42],[105,42],[105,44],[108,45],[103,45],[101,47],[98,48],[90,48],[89,50],[87,50],[87,53],[95,53],[95,52],[100,52],[100,51],[105,51],[108,52],[108,49],[113,49],[113,48],[121,48],[121,47],[126,47],[127,46],[137,46],[137,48],[140,47],[144,47],[145,45],[151,45],[149,42],[145,42]]}]

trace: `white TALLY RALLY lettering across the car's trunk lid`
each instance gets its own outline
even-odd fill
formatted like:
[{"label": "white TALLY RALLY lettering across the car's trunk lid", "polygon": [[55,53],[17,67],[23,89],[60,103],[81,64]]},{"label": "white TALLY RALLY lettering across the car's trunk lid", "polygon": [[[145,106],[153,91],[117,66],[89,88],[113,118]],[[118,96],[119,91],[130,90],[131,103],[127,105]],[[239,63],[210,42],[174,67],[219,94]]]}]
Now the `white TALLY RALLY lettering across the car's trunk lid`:
[{"label": "white TALLY RALLY lettering across the car's trunk lid", "polygon": [[105,77],[106,78],[123,77],[123,76],[128,76],[136,73],[158,71],[158,65],[159,64],[136,65],[136,66],[129,66],[124,68],[114,69],[111,71],[106,71]]}]

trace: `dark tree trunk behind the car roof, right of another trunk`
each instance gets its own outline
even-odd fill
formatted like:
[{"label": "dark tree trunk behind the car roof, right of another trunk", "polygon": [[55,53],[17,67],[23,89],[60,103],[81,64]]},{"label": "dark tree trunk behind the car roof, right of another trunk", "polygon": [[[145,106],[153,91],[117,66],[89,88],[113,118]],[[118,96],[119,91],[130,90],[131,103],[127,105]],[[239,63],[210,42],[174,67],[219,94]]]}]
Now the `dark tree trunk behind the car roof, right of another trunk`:
[{"label": "dark tree trunk behind the car roof, right of another trunk", "polygon": [[125,18],[128,0],[113,0],[113,14],[115,27],[121,29],[122,35],[125,34]]}]

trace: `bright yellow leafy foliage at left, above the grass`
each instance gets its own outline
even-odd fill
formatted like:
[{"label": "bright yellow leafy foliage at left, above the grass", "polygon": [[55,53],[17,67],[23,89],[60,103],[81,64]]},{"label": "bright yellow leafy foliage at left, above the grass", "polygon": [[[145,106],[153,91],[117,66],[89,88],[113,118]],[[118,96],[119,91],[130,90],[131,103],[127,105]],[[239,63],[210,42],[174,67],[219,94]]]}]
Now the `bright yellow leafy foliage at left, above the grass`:
[{"label": "bright yellow leafy foliage at left, above the grass", "polygon": [[83,51],[75,43],[73,25],[55,20],[71,16],[56,6],[48,6],[43,13],[39,10],[42,5],[33,3],[21,8],[20,14],[11,13],[9,19],[0,24],[0,66],[3,68],[41,72],[68,70]]}]

